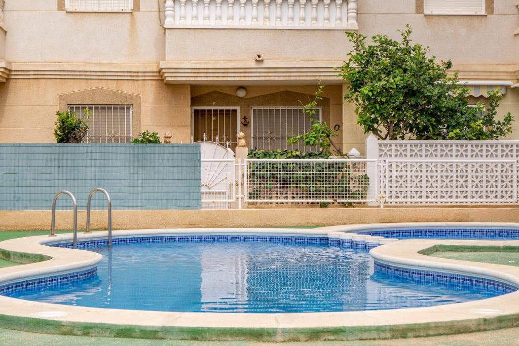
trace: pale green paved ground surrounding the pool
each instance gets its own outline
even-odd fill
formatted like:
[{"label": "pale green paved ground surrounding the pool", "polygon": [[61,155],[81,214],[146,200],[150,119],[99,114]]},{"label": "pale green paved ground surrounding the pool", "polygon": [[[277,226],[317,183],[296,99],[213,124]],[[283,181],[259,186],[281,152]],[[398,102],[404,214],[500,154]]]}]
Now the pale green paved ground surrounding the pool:
[{"label": "pale green paved ground surrounding the pool", "polygon": [[[0,241],[28,236],[38,236],[47,234],[42,231],[16,231],[1,232]],[[63,232],[59,232],[63,233]],[[437,252],[433,256],[442,258],[452,258],[460,260],[472,260],[477,262],[489,262],[497,264],[506,264],[519,266],[518,253],[486,253],[486,252]],[[0,267],[7,261],[0,260]],[[8,262],[9,264],[10,262]],[[196,342],[196,341],[176,341],[176,340],[142,340],[142,339],[116,339],[116,338],[89,338],[89,337],[73,337],[61,335],[46,335],[36,333],[25,333],[21,331],[0,329],[0,345],[52,345],[52,346],[81,346],[81,345],[179,345],[179,346],[242,346],[242,345],[267,345],[268,343],[259,342]],[[460,334],[430,338],[417,339],[399,339],[399,340],[377,340],[377,341],[350,341],[350,342],[297,342],[282,343],[280,345],[301,346],[301,345],[321,345],[326,346],[499,346],[499,345],[517,345],[519,346],[519,328],[500,329],[493,331],[485,331],[481,333]]]}]

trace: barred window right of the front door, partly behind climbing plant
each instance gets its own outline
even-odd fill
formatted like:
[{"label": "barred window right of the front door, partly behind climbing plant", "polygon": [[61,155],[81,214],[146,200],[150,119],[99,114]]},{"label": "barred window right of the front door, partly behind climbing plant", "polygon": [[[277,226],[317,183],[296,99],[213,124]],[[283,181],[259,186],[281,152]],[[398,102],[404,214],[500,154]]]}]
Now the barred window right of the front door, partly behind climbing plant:
[{"label": "barred window right of the front door, partly behind climbing plant", "polygon": [[[322,121],[320,107],[316,109],[316,117]],[[292,137],[308,131],[310,126],[310,117],[303,107],[252,107],[251,147],[268,150],[319,150],[319,147],[304,146],[302,143],[287,143]]]}]

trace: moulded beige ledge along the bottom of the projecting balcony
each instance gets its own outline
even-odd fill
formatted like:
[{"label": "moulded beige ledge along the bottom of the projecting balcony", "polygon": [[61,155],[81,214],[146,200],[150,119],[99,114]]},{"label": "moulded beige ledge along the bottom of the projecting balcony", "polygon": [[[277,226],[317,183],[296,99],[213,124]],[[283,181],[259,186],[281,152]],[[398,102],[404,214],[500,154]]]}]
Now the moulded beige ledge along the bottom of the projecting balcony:
[{"label": "moulded beige ledge along the bottom of the projecting balcony", "polygon": [[340,84],[335,67],[342,61],[161,61],[167,84]]}]

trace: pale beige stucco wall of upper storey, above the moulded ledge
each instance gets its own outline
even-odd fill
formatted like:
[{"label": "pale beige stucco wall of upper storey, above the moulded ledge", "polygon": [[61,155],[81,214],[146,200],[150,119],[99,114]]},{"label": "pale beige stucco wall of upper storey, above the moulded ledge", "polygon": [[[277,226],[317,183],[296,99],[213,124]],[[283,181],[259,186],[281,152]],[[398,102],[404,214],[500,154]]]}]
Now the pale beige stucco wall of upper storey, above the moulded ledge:
[{"label": "pale beige stucco wall of upper storey, above the moulded ledge", "polygon": [[[163,0],[135,1],[131,13],[65,12],[61,2],[5,3],[8,61],[233,61],[256,53],[266,60],[342,61],[351,48],[342,30],[169,29],[165,39],[158,13],[160,5],[163,20]],[[512,0],[493,2],[492,15],[425,16],[416,13],[420,0],[359,1],[359,32],[396,37],[395,30],[409,23],[414,40],[429,45],[439,59],[517,64],[517,7]]]}]

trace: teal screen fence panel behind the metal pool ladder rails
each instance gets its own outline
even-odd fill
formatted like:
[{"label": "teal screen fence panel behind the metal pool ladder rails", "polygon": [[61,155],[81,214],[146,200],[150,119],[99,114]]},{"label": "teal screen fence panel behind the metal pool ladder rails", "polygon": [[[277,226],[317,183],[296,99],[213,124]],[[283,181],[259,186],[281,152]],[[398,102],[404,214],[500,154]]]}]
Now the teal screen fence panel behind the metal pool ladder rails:
[{"label": "teal screen fence panel behind the metal pool ladder rails", "polygon": [[[200,209],[200,146],[195,144],[0,144],[0,210],[50,210],[69,190],[86,209],[104,188],[113,209]],[[67,196],[58,210],[71,209]],[[102,193],[92,209],[106,209]]]}]

